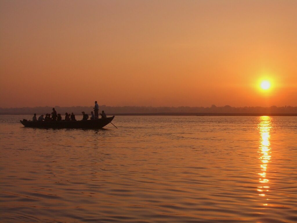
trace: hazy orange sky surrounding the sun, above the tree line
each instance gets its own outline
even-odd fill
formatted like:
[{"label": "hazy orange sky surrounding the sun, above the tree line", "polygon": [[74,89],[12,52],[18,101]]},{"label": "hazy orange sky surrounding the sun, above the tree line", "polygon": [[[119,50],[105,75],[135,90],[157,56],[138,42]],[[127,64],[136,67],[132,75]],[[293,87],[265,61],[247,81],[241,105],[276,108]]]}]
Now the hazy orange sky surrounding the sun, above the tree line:
[{"label": "hazy orange sky surrounding the sun, above the tree line", "polygon": [[297,106],[296,0],[0,0],[0,52],[2,108]]}]

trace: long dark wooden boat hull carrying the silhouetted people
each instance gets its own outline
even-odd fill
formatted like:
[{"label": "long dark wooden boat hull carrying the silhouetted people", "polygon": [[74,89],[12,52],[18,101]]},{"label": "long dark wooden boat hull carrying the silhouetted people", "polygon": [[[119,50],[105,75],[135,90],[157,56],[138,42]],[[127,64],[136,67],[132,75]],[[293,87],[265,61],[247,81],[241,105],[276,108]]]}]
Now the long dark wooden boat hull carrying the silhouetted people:
[{"label": "long dark wooden boat hull carrying the silhouetted people", "polygon": [[79,120],[79,121],[27,121],[26,119],[20,120],[25,127],[32,128],[103,128],[108,125],[113,117],[99,118],[94,120]]}]

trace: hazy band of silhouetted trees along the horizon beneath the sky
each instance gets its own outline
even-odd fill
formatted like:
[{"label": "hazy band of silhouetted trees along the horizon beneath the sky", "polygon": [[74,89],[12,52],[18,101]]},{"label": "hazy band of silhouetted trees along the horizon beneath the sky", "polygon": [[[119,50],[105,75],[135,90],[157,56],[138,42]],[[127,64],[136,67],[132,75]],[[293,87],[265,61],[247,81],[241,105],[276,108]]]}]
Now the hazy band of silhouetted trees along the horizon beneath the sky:
[{"label": "hazy band of silhouetted trees along the horizon beneath the sky", "polygon": [[[45,107],[23,107],[23,108],[0,108],[0,114],[46,114],[53,106]],[[80,115],[82,111],[91,113],[93,106],[55,106],[59,113],[74,112]],[[229,105],[217,107],[150,107],[150,106],[106,106],[99,105],[99,110],[104,110],[106,114],[149,114],[149,113],[244,113],[244,114],[297,114],[297,107],[293,106],[271,106],[271,107],[231,107]]]}]

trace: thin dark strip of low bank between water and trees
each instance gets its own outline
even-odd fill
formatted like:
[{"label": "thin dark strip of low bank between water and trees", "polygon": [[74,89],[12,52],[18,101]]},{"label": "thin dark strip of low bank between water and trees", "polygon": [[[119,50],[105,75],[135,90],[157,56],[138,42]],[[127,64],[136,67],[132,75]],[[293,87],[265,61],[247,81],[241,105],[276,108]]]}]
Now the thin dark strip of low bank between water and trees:
[{"label": "thin dark strip of low bank between water and trees", "polygon": [[[31,115],[0,113],[0,115]],[[80,114],[77,114],[78,116]],[[115,116],[297,116],[297,113],[198,113],[198,112],[159,112],[159,113],[107,113]]]}]

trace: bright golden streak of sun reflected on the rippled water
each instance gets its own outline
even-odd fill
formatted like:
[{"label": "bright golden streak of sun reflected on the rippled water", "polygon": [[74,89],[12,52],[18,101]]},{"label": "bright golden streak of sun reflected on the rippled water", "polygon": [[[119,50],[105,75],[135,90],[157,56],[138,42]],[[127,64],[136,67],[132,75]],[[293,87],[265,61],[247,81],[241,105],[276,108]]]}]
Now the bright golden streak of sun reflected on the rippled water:
[{"label": "bright golden streak of sun reflected on the rippled water", "polygon": [[[260,130],[260,147],[258,153],[260,153],[260,161],[261,161],[261,172],[258,173],[260,175],[259,182],[260,186],[258,186],[257,191],[259,192],[259,196],[265,197],[266,193],[269,191],[268,182],[266,173],[268,163],[271,159],[271,147],[270,147],[270,129],[271,129],[271,121],[269,116],[261,116],[260,122],[258,124],[258,129]],[[268,199],[266,199],[268,200]],[[267,203],[263,204],[264,206],[268,205]]]}]

